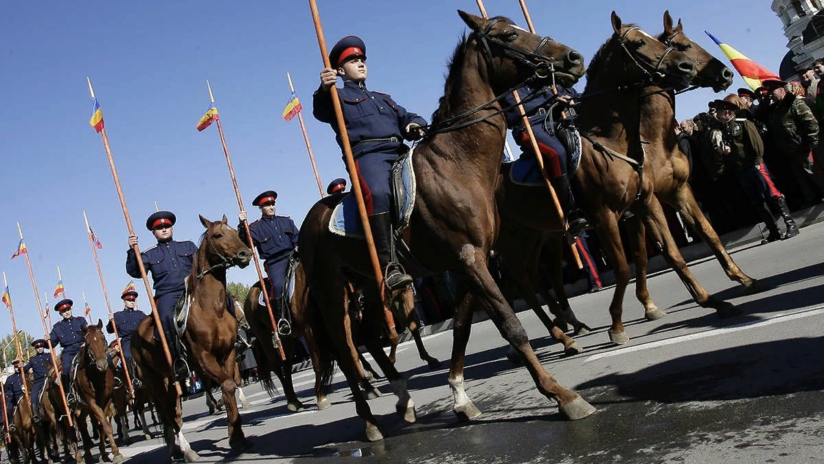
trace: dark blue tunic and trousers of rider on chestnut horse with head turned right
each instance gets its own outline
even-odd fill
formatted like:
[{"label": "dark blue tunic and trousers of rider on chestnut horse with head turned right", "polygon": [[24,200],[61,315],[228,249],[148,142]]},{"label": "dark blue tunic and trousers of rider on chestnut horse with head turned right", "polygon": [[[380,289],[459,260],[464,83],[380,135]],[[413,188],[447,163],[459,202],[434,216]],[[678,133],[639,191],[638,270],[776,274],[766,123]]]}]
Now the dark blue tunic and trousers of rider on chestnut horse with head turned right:
[{"label": "dark blue tunic and trousers of rider on chestnut horse with head turned right", "polygon": [[[198,247],[188,240],[169,240],[140,253],[143,266],[152,274],[154,298],[164,332],[175,329],[175,305],[185,291],[184,279],[192,270],[197,251]],[[133,249],[126,252],[126,272],[131,277],[141,277]]]}]

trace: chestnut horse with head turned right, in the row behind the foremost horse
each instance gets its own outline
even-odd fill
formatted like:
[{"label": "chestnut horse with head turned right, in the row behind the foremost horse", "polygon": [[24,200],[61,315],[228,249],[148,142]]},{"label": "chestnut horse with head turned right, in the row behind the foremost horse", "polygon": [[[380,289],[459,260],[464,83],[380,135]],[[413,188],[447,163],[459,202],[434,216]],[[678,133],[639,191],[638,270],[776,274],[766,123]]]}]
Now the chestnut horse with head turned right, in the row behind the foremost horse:
[{"label": "chestnut horse with head turned right, in the row behind the foremost horse", "polygon": [[[198,376],[221,386],[227,408],[229,446],[233,450],[248,447],[241,429],[241,416],[235,400],[235,370],[237,320],[227,306],[226,272],[228,268],[246,268],[251,250],[227,225],[226,215],[212,222],[200,216],[206,228],[195,253],[192,270],[187,277],[185,298],[189,301],[183,343],[193,361]],[[137,363],[138,377],[143,381],[164,425],[164,438],[170,456],[184,457],[192,462],[199,456],[191,449],[183,434],[183,406],[171,379],[162,347],[154,339],[153,318],[146,318],[132,338],[132,356]]]}]

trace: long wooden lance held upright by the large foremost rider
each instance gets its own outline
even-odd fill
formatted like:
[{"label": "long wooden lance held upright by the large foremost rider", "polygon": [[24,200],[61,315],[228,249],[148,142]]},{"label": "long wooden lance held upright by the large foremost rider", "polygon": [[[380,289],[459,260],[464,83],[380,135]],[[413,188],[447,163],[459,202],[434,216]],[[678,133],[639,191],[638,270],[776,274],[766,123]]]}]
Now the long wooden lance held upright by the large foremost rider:
[{"label": "long wooden lance held upright by the large foremost rider", "polygon": [[[309,7],[311,9],[312,21],[315,23],[317,44],[321,48],[323,67],[331,68],[332,64],[330,64],[329,61],[329,53],[326,50],[326,39],[323,36],[323,26],[321,26],[321,14],[317,11],[316,0],[309,0]],[[340,134],[341,145],[343,145],[344,148],[346,169],[349,171],[349,178],[352,180],[352,192],[355,195],[355,200],[358,202],[358,213],[361,218],[361,224],[363,225],[363,235],[366,238],[369,259],[372,261],[372,271],[375,272],[377,291],[380,293],[383,302],[383,315],[386,318],[386,325],[389,327],[390,332],[393,333],[395,330],[395,319],[392,317],[392,313],[388,309],[388,296],[386,294],[386,286],[383,281],[381,263],[377,259],[375,240],[372,238],[372,227],[369,225],[369,218],[366,213],[366,204],[363,202],[363,191],[360,186],[358,170],[355,168],[355,160],[352,155],[352,146],[349,144],[349,134],[346,132],[346,121],[344,121],[343,109],[340,107],[338,88],[333,85],[329,91],[331,92],[332,107],[335,108],[335,119],[338,121],[338,132]]]}]

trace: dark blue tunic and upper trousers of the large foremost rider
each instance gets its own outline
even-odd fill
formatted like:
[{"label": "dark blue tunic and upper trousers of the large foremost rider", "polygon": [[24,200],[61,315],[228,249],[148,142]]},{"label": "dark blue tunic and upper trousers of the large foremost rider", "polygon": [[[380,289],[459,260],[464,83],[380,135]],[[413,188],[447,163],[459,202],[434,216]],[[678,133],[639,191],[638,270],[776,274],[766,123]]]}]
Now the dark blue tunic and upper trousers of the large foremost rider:
[{"label": "dark blue tunic and upper trousers of the large foremost rider", "polygon": [[[344,81],[344,88],[338,89],[338,96],[367,213],[387,212],[391,206],[389,172],[398,156],[408,149],[403,143],[404,130],[411,123],[426,125],[426,120],[406,111],[386,93],[369,91],[364,83]],[[318,121],[332,125],[337,135],[335,139],[343,148],[335,124],[331,92],[322,88],[316,90],[312,114]]]}]

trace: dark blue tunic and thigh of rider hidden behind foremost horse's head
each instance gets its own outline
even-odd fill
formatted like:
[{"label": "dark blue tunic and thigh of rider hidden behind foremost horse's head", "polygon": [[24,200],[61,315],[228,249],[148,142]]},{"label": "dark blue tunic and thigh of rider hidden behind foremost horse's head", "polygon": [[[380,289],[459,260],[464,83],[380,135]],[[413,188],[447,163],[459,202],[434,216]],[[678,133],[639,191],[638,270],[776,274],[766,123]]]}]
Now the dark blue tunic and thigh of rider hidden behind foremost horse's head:
[{"label": "dark blue tunic and thigh of rider hidden behind foremost horse's head", "polygon": [[[554,95],[552,88],[544,87],[540,89],[524,86],[517,89],[518,97],[521,100],[527,99],[531,93],[536,92],[537,97],[522,104],[524,112],[527,113],[529,124],[532,127],[532,133],[535,135],[538,143],[538,149],[544,155],[545,166],[550,177],[557,178],[566,173],[567,163],[569,162],[569,154],[567,154],[564,144],[561,144],[558,137],[550,135],[547,129],[557,130],[558,121],[560,121],[561,111],[559,107],[555,107],[555,114],[553,114],[553,127],[549,125],[549,118],[546,111],[557,102],[558,97],[578,97],[578,91],[574,88],[558,87],[558,95]],[[515,97],[508,94],[503,100],[503,105],[509,107],[515,104]],[[526,127],[523,125],[523,118],[521,111],[514,107],[505,114],[507,118],[507,125],[513,130],[513,139],[519,147],[521,147],[521,158],[535,158],[535,151],[532,149],[531,141],[527,133]],[[544,124],[546,121],[547,125]]]}]

